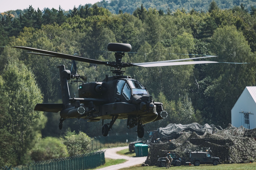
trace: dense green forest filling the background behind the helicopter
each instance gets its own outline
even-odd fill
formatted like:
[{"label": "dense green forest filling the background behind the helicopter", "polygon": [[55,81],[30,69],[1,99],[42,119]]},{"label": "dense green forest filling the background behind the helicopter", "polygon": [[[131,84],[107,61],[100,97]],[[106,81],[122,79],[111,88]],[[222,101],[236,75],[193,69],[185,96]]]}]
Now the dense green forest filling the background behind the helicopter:
[{"label": "dense green forest filling the background behind the helicopter", "polygon": [[[114,61],[107,44],[129,43],[132,50],[123,61],[133,63],[216,55],[209,60],[220,63],[131,67],[125,75],[145,86],[168,113],[166,119],[146,124],[145,131],[169,123],[192,122],[225,128],[231,123],[231,109],[244,88],[255,86],[255,11],[255,6],[248,9],[246,4],[220,9],[212,1],[205,12],[163,12],[140,4],[131,14],[115,14],[94,4],[74,7],[69,14],[61,7],[40,11],[29,6],[18,17],[1,17],[0,165],[87,152],[88,141],[101,135],[102,122],[71,119],[59,130],[58,113],[34,111],[36,103],[61,103],[57,66],[64,63],[71,70],[72,61],[36,56],[10,46]],[[77,62],[77,72],[84,82],[112,76],[107,66],[83,62]],[[70,84],[70,91],[71,96],[77,95],[76,83]],[[126,128],[126,120],[116,121],[113,130],[110,133],[136,131]],[[47,147],[51,153],[44,150]]]}]

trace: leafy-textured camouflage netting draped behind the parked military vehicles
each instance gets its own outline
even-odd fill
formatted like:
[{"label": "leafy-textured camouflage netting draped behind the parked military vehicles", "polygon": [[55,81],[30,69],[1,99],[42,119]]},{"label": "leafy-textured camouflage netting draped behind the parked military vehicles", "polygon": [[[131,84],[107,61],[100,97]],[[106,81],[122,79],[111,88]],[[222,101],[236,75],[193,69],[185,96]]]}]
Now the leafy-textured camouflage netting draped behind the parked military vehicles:
[{"label": "leafy-textured camouflage netting draped behind the parked military vehicles", "polygon": [[249,163],[256,159],[256,129],[234,127],[231,124],[224,130],[205,131],[203,135],[184,132],[169,142],[152,143],[145,161],[156,165],[158,156],[165,157],[168,152],[188,160],[189,152],[211,150],[212,156],[220,158],[222,163]]}]

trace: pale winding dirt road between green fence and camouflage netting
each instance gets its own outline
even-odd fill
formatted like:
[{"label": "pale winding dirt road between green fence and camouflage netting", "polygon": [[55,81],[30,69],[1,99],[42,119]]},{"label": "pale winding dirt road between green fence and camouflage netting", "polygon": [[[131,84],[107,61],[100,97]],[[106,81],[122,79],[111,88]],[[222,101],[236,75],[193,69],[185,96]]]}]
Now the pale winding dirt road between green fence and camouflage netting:
[{"label": "pale winding dirt road between green fence and camouflage netting", "polygon": [[146,156],[144,157],[129,157],[129,156],[124,156],[124,155],[119,155],[116,152],[127,149],[128,146],[124,147],[116,147],[116,148],[110,148],[105,150],[105,158],[111,158],[111,159],[126,159],[127,161],[118,165],[112,165],[108,167],[104,167],[98,170],[117,170],[125,167],[130,167],[133,165],[138,165],[142,164],[143,162],[146,161]]}]

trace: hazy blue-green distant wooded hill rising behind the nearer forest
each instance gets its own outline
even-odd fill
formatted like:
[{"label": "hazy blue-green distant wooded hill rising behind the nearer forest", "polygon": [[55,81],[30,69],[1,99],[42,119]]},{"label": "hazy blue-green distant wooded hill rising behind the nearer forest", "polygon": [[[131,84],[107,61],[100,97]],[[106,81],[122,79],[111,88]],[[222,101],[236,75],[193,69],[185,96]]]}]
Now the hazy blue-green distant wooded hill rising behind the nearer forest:
[{"label": "hazy blue-green distant wooded hill rising behind the nearer forest", "polygon": [[[156,8],[159,10],[159,14],[167,14],[168,12],[176,11],[177,9],[184,9],[187,11],[203,11],[207,12],[209,9],[209,4],[212,0],[206,1],[178,1],[178,0],[162,0],[162,1],[148,1],[148,0],[102,0],[97,3],[98,6],[109,9],[114,14],[119,14],[120,12],[127,12],[132,14],[134,10],[143,4],[146,9]],[[244,4],[244,8],[251,10],[255,7],[256,3],[254,1],[243,1],[243,0],[215,0],[216,4],[220,9],[230,9],[235,6]]]}]

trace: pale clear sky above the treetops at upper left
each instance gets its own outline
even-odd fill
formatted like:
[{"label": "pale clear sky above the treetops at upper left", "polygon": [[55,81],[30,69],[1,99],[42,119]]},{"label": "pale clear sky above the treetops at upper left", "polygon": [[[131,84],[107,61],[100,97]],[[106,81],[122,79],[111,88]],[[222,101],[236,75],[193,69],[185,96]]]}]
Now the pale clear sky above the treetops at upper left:
[{"label": "pale clear sky above the treetops at upper left", "polygon": [[63,10],[67,11],[69,9],[73,9],[74,6],[79,7],[80,4],[94,4],[100,1],[101,0],[0,0],[0,13],[16,9],[23,10],[28,8],[29,5],[32,5],[32,7],[36,10],[37,8],[40,10],[44,10],[44,8],[59,9],[60,6]]}]

